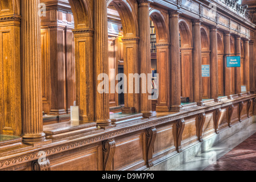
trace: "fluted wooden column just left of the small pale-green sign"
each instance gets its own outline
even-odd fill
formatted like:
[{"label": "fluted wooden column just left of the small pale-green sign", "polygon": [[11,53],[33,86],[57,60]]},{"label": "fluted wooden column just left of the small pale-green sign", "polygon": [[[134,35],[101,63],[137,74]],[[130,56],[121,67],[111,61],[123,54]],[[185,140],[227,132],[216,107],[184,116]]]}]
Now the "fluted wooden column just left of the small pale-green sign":
[{"label": "fluted wooden column just left of the small pale-green sign", "polygon": [[201,56],[201,20],[193,20],[193,77],[194,101],[198,106],[203,106],[203,78]]}]

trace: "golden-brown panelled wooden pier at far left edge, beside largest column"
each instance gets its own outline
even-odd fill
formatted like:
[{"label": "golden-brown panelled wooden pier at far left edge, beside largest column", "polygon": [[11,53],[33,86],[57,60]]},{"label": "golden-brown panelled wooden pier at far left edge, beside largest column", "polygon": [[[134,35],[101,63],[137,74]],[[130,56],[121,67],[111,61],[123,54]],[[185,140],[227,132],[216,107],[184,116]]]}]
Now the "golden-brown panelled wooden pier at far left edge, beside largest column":
[{"label": "golden-brown panelled wooden pier at far left edge, beside largest column", "polygon": [[0,27],[0,134],[20,135],[21,61],[20,27]]}]

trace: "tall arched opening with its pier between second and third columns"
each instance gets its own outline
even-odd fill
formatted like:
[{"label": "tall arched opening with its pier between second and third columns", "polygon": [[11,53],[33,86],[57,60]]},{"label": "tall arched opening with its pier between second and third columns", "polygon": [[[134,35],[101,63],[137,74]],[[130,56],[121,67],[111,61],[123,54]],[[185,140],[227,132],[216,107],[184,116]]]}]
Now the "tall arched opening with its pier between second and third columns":
[{"label": "tall arched opening with its pier between second and third columns", "polygon": [[[110,81],[117,84],[116,75],[125,73],[127,76],[128,93],[110,93],[110,106],[114,108],[123,105],[122,113],[139,113],[139,93],[135,88],[129,88],[129,73],[139,73],[139,33],[134,3],[123,0],[107,1],[109,10],[109,72],[115,69],[115,74],[110,76]],[[133,93],[129,91],[133,90]],[[111,108],[110,108],[111,109]],[[120,111],[117,109],[117,111]]]}]

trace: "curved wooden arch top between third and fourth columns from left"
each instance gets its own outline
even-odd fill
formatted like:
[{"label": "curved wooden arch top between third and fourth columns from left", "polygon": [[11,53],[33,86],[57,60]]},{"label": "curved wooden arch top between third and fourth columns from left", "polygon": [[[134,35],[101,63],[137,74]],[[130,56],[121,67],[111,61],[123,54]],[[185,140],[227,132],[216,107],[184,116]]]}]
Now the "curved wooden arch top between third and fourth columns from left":
[{"label": "curved wooden arch top between third and fourth columns from left", "polygon": [[164,15],[161,11],[157,9],[150,9],[150,18],[154,22],[156,31],[156,42],[157,43],[167,43],[168,42],[168,24]]}]

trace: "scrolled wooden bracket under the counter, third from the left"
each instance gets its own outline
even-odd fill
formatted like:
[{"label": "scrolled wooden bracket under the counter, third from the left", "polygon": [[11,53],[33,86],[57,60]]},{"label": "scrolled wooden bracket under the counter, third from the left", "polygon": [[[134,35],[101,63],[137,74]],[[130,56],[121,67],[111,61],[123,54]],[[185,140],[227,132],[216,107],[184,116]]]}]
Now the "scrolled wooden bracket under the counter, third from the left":
[{"label": "scrolled wooden bracket under the counter, third from the left", "polygon": [[150,129],[147,129],[146,134],[147,134],[147,167],[152,167],[154,143],[156,138],[156,128],[151,127]]}]

